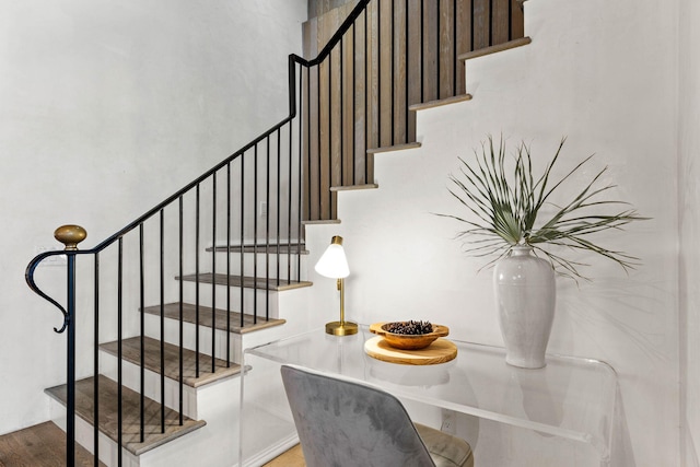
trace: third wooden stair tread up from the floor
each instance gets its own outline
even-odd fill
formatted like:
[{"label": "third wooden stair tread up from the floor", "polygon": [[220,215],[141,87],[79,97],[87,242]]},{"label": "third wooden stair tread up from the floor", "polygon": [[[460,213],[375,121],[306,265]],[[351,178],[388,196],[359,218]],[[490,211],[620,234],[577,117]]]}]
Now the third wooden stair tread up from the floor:
[{"label": "third wooden stair tread up from the floor", "polygon": [[[144,312],[151,315],[161,315],[161,307],[147,306]],[[163,306],[163,315],[170,319],[179,319],[179,303],[166,303]],[[247,313],[243,314],[243,327],[241,327],[241,313],[230,312],[231,332],[246,334],[260,329],[266,329],[275,326],[280,326],[287,323],[284,319],[265,319],[262,317],[257,318],[254,322],[253,315]],[[220,330],[229,330],[229,317],[225,310],[217,308],[214,311],[215,326]],[[183,320],[185,323],[197,323],[197,307],[190,303],[183,303]],[[199,325],[211,328],[211,307],[199,305]]]}]

